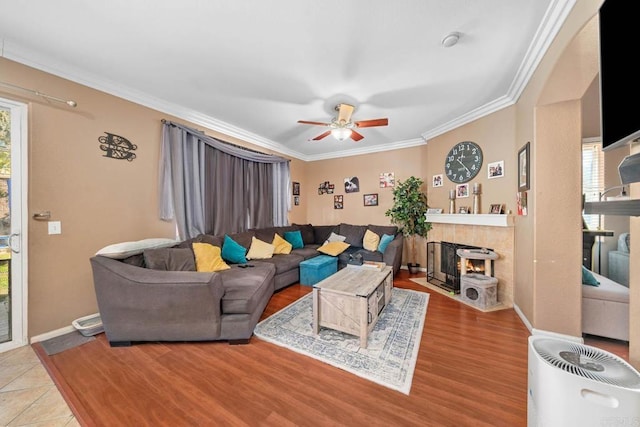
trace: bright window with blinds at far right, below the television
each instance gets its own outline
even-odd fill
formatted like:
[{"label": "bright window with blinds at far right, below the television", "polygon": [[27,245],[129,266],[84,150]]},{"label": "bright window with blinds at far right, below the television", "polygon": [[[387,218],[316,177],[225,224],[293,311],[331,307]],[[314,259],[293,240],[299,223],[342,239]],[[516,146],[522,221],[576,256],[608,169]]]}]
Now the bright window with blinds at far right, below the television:
[{"label": "bright window with blinds at far right, below the television", "polygon": [[[602,142],[582,143],[582,194],[585,202],[597,202],[604,191],[604,153]],[[589,230],[600,226],[600,215],[582,215]]]}]

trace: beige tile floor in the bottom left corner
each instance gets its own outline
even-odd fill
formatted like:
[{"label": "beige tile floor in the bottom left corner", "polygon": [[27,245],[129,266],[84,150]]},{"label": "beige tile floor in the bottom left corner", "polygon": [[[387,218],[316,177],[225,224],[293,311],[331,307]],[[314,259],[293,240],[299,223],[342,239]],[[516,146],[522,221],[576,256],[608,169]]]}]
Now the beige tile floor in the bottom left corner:
[{"label": "beige tile floor in the bottom left corner", "polygon": [[30,346],[0,353],[0,426],[79,426]]}]

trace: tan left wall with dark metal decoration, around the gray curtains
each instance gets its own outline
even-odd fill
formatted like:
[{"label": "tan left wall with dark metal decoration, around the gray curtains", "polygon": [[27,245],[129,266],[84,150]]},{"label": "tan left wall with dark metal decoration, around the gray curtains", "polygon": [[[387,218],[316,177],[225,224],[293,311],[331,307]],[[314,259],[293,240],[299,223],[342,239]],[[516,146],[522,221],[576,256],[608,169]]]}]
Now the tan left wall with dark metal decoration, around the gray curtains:
[{"label": "tan left wall with dark metal decoration, around the gray curtains", "polygon": [[[0,96],[29,107],[28,336],[69,326],[97,312],[89,257],[108,244],[174,237],[173,223],[157,214],[160,120],[172,117],[0,58],[2,79],[74,99],[75,109],[7,89]],[[129,162],[104,157],[98,138],[110,132],[138,146]],[[212,136],[225,138],[216,132]],[[240,145],[243,141],[225,138]],[[263,152],[259,147],[257,148]],[[304,162],[293,160],[294,179]],[[50,211],[62,234],[31,219]],[[291,219],[306,213],[292,209]]]}]

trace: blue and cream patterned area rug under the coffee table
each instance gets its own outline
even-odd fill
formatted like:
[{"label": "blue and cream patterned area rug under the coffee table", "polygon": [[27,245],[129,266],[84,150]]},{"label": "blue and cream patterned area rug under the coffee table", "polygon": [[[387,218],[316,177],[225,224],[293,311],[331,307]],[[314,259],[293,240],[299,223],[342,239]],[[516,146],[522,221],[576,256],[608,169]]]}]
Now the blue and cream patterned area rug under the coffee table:
[{"label": "blue and cream patterned area rug under the coffee table", "polygon": [[409,394],[420,349],[429,294],[393,288],[388,306],[369,334],[367,348],[355,335],[320,328],[313,334],[312,294],[258,323],[255,335],[385,387]]}]

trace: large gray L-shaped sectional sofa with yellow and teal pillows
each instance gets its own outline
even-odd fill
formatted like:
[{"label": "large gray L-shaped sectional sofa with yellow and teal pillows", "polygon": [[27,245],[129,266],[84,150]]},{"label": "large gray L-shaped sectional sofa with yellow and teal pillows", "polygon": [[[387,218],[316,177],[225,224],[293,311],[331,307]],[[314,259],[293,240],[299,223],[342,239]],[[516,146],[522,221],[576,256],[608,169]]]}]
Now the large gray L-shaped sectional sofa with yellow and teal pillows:
[{"label": "large gray L-shaped sectional sofa with yellow and teal pillows", "polygon": [[[379,236],[394,235],[384,253],[363,248],[367,230]],[[193,262],[173,262],[173,267],[169,262],[163,264],[163,269],[147,268],[144,251],[123,259],[93,256],[90,262],[98,309],[110,344],[214,340],[248,343],[273,293],[299,282],[300,263],[321,255],[317,249],[332,232],[343,236],[350,245],[338,256],[339,269],[346,266],[350,254],[361,254],[367,261],[385,262],[393,267],[394,274],[402,263],[403,236],[395,226],[294,224],[229,237],[248,250],[253,237],[271,242],[275,233],[283,237],[287,231],[300,231],[304,247],[289,254],[251,260],[249,268],[230,263],[230,269],[214,273],[193,271]],[[172,253],[184,257],[192,243],[222,248],[223,242],[224,236],[200,235],[167,249],[177,249]],[[171,271],[174,268],[180,271]]]}]

